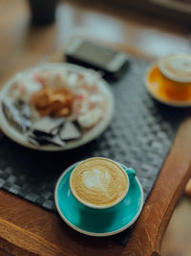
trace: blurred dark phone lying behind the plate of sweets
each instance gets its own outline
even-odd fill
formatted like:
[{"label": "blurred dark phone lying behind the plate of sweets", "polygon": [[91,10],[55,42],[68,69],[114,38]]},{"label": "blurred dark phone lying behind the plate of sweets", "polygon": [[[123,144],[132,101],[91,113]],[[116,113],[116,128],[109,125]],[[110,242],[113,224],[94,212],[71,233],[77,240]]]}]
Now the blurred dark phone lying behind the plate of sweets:
[{"label": "blurred dark phone lying behind the plate of sweets", "polygon": [[126,54],[80,37],[70,42],[65,57],[68,62],[100,71],[108,79],[119,79],[129,64]]}]

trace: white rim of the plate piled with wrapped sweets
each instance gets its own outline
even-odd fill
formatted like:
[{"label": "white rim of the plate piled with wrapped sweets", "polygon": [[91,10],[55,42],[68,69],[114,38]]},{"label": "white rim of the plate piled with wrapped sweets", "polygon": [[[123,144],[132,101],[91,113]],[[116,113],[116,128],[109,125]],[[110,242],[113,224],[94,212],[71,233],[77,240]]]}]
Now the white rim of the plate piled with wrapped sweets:
[{"label": "white rim of the plate piled with wrapped sweets", "polygon": [[[74,72],[80,71],[83,73],[87,73],[87,72],[93,73],[94,72],[93,70],[86,69],[86,68],[83,68],[83,67],[80,67],[80,66],[77,66],[74,64],[69,64],[69,63],[48,63],[48,64],[37,66],[32,69],[25,70],[22,72],[22,75],[25,76],[31,72],[42,71],[42,70],[46,70],[49,68],[52,70],[67,69],[67,70],[71,70]],[[18,130],[16,130],[15,128],[10,126],[10,124],[2,110],[2,104],[1,104],[2,100],[5,100],[8,97],[8,92],[9,92],[12,82],[14,80],[15,80],[15,77],[12,78],[11,81],[7,82],[1,91],[1,95],[0,95],[0,127],[3,130],[3,132],[9,138],[11,138],[11,140],[13,140],[14,142],[16,142],[22,146],[25,146],[27,148],[31,148],[31,149],[38,150],[38,151],[66,151],[66,150],[72,150],[74,148],[80,147],[80,146],[85,145],[88,142],[96,139],[96,137],[99,136],[109,126],[109,124],[112,120],[112,117],[114,115],[114,97],[113,97],[111,88],[106,81],[104,81],[103,79],[100,78],[99,80],[102,83],[101,84],[102,90],[108,99],[108,105],[107,105],[103,119],[101,121],[99,121],[94,128],[91,128],[89,131],[87,131],[80,139],[66,143],[66,145],[64,147],[57,147],[57,146],[53,146],[53,145],[47,145],[47,146],[32,145],[32,143],[30,143],[28,141],[28,139],[21,132],[19,132]]]}]

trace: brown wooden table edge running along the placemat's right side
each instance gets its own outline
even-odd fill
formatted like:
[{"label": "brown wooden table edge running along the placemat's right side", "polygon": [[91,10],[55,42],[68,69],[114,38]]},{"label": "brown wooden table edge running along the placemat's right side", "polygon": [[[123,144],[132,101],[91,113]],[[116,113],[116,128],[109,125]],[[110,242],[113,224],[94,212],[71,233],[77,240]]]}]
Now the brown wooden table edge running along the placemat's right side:
[{"label": "brown wooden table edge running along the placemat's right side", "polygon": [[[160,255],[164,231],[185,184],[191,176],[191,159],[189,156],[191,151],[190,128],[191,118],[187,118],[180,125],[171,151],[144,205],[127,246],[127,255],[131,255],[134,246],[137,247],[138,255]],[[141,241],[142,243],[138,245],[135,244],[135,241]]]}]

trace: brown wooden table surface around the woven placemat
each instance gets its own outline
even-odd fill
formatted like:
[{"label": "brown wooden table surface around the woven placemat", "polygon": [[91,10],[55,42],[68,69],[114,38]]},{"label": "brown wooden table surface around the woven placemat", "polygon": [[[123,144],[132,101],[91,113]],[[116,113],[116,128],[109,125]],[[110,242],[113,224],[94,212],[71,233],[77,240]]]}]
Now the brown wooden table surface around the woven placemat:
[{"label": "brown wooden table surface around the woven placemat", "polygon": [[[99,39],[140,58],[190,53],[188,31],[178,24],[86,2],[59,2],[56,14],[55,25],[32,29],[26,1],[1,0],[1,85],[18,70],[61,60],[61,49],[72,35]],[[190,130],[187,118],[127,246],[81,235],[57,214],[0,190],[0,255],[159,255],[163,232],[191,175]]]}]

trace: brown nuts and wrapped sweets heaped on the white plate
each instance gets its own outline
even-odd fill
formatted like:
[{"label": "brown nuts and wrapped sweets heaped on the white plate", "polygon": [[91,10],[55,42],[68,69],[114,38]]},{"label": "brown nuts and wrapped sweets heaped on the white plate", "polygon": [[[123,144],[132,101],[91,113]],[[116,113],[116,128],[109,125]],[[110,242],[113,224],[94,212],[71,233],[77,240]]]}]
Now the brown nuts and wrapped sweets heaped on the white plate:
[{"label": "brown nuts and wrapped sweets heaped on the white plate", "polygon": [[102,120],[108,99],[95,72],[36,70],[17,75],[2,103],[11,126],[30,143],[63,147]]}]

